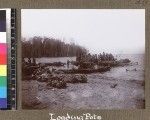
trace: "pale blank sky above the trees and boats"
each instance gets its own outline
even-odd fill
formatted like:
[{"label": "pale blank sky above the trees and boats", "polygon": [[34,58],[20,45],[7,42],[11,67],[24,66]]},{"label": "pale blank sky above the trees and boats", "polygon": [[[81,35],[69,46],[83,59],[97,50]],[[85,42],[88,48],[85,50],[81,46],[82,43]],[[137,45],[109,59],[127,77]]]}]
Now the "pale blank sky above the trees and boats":
[{"label": "pale blank sky above the trees and boats", "polygon": [[23,9],[22,37],[74,42],[91,53],[143,54],[144,9]]}]

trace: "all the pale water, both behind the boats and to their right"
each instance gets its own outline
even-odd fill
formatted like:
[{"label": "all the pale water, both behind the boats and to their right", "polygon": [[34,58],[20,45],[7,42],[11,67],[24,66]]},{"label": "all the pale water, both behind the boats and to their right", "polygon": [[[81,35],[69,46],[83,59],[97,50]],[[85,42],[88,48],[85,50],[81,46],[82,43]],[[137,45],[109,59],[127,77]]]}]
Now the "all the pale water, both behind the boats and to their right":
[{"label": "all the pale water, both behind the boats and to their right", "polygon": [[[103,74],[103,77],[111,77],[112,79],[123,79],[123,80],[144,80],[144,55],[143,54],[124,54],[116,55],[118,60],[128,58],[133,63],[132,66],[115,67],[110,71]],[[53,63],[69,61],[76,61],[76,57],[57,57],[57,58],[37,58],[37,63]],[[134,64],[138,62],[137,64]],[[137,71],[134,71],[136,68]],[[126,72],[126,69],[129,70]]]}]

